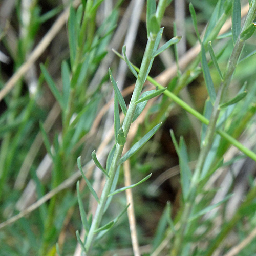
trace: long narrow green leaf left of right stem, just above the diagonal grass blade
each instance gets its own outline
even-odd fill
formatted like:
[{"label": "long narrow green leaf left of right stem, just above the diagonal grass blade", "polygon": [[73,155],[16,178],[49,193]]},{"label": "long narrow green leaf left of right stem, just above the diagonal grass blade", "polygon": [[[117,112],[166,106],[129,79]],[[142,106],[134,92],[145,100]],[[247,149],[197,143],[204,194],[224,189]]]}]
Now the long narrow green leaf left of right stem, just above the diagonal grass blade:
[{"label": "long narrow green leaf left of right stem, just above the diagonal grass blade", "polygon": [[201,58],[202,58],[202,68],[203,68],[203,75],[204,75],[204,80],[206,83],[206,88],[210,97],[210,102],[212,105],[214,105],[215,99],[216,99],[216,92],[214,88],[214,83],[212,82],[211,76],[210,76],[210,70],[208,67],[207,59],[206,59],[206,54],[204,50],[204,46],[201,45]]}]

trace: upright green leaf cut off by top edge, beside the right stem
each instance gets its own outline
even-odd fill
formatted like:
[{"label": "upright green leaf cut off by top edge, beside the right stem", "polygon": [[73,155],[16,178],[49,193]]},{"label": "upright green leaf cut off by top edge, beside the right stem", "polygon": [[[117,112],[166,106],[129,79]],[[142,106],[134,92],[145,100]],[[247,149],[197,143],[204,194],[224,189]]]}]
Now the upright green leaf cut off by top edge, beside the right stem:
[{"label": "upright green leaf cut off by top edge, beside the right stem", "polygon": [[240,0],[233,0],[233,5],[232,5],[233,44],[236,43],[240,30],[241,30],[241,3],[240,3]]}]

